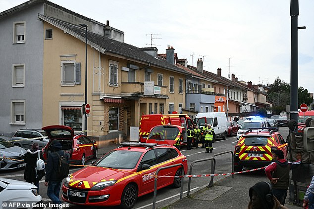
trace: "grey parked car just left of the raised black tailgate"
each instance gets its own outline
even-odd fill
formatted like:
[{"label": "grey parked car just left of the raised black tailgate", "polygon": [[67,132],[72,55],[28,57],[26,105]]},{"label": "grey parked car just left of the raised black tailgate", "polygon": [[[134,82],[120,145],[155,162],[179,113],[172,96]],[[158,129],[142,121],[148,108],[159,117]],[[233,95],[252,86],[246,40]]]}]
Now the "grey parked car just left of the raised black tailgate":
[{"label": "grey parked car just left of the raised black tailgate", "polygon": [[37,142],[39,148],[42,149],[49,142],[49,138],[45,131],[41,129],[19,129],[10,140],[15,146],[24,149],[31,149],[32,144]]}]

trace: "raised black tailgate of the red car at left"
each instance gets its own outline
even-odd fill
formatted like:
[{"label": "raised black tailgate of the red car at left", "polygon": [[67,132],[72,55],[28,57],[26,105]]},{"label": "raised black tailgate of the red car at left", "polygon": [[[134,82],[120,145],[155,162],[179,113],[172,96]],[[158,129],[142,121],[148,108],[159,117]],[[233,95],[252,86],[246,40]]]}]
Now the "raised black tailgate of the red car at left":
[{"label": "raised black tailgate of the red car at left", "polygon": [[73,140],[74,137],[74,130],[69,126],[49,125],[42,127],[42,129],[45,130],[50,140]]}]

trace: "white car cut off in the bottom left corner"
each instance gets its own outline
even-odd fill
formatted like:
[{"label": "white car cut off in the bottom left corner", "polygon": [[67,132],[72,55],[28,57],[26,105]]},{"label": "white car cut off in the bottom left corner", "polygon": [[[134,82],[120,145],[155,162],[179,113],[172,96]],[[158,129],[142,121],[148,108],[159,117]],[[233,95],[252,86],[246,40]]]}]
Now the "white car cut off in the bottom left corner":
[{"label": "white car cut off in the bottom left corner", "polygon": [[[0,209],[2,208],[34,208],[42,204],[42,196],[37,194],[37,187],[25,181],[0,178]],[[12,207],[9,207],[9,204]],[[24,205],[23,205],[24,204]]]}]

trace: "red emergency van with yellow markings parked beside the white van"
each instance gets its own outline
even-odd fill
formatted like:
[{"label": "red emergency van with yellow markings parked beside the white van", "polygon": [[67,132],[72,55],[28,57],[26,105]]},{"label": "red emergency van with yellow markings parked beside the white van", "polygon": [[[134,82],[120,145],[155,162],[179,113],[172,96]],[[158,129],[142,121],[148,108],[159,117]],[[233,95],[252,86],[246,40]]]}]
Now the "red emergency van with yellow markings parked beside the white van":
[{"label": "red emergency van with yellow markings parked beside the white van", "polygon": [[[139,127],[139,142],[145,143],[152,127],[156,125],[179,125],[184,127],[184,131],[193,125],[192,119],[187,114],[151,114],[143,115],[140,121]],[[194,125],[193,125],[194,129]],[[187,143],[187,136],[184,134],[184,138],[180,142],[181,144]]]}]

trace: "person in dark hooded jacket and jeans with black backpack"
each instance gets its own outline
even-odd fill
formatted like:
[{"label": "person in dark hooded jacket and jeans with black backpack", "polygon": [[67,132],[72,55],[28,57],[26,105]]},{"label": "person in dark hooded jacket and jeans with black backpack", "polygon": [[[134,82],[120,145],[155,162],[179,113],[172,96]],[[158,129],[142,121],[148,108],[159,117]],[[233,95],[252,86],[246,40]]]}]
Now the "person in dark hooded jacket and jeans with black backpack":
[{"label": "person in dark hooded jacket and jeans with black backpack", "polygon": [[[54,205],[61,204],[61,201],[59,200],[59,193],[60,193],[61,183],[64,177],[57,176],[61,157],[65,158],[67,165],[69,165],[68,156],[62,150],[62,146],[60,142],[56,139],[52,140],[51,153],[48,155],[47,164],[46,164],[45,186],[48,186],[47,195],[52,200],[52,203]],[[69,168],[67,167],[67,169]],[[67,170],[67,172],[69,171]]]}]

